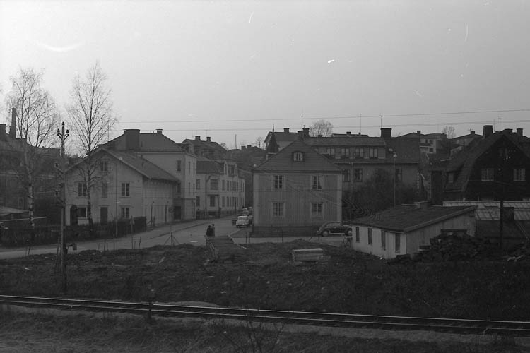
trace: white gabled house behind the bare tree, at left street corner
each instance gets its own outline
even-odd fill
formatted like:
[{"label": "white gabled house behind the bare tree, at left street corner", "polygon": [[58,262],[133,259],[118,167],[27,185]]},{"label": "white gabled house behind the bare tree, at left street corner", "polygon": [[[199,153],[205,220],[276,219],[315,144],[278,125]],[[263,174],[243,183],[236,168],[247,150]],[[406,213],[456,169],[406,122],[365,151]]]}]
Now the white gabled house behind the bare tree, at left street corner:
[{"label": "white gabled house behind the bare tree, at left street corner", "polygon": [[[153,225],[171,222],[178,180],[139,155],[98,148],[99,168],[90,188],[90,210],[95,223],[146,217]],[[87,185],[83,160],[66,173],[66,225],[88,224]]]}]

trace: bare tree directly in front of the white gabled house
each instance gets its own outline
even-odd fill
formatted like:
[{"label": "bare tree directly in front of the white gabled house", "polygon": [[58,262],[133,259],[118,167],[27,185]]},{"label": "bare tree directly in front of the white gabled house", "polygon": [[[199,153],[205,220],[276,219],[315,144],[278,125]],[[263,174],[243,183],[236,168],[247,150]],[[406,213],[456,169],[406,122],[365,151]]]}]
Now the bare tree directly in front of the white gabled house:
[{"label": "bare tree directly in front of the white gabled house", "polygon": [[98,160],[93,152],[105,142],[107,133],[117,119],[112,112],[111,90],[106,85],[107,76],[100,68],[99,62],[88,69],[86,77],[73,79],[71,102],[66,107],[69,115],[70,131],[79,143],[83,162],[78,164],[77,171],[86,190],[86,213],[90,227],[93,226],[90,191],[97,185]]}]

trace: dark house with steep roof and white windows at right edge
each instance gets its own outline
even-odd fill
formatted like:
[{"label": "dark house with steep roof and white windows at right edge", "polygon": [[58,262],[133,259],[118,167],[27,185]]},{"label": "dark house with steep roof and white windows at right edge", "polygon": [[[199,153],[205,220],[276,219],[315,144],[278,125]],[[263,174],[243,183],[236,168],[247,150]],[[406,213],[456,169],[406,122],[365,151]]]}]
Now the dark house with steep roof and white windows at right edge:
[{"label": "dark house with steep roof and white windows at right edge", "polygon": [[522,129],[493,133],[493,126],[484,126],[483,138],[447,162],[444,200],[529,200],[530,155],[524,143]]}]

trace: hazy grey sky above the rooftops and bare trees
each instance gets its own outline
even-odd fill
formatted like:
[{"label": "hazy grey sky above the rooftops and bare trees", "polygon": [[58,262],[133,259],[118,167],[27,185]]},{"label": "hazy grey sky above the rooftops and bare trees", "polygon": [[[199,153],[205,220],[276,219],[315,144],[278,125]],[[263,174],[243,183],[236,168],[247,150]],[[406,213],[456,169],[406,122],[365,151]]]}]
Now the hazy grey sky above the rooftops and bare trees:
[{"label": "hazy grey sky above the rooftops and bare trees", "polygon": [[0,121],[19,68],[66,120],[99,61],[119,123],[228,148],[324,119],[335,133],[483,125],[530,136],[530,0],[0,0]]}]

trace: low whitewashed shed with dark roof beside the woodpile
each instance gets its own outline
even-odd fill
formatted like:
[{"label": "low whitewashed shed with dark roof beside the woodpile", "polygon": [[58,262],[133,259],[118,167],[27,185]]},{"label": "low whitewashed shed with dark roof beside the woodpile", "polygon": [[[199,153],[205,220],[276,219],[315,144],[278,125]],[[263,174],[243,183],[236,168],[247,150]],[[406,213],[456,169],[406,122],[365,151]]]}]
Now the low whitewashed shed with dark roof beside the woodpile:
[{"label": "low whitewashed shed with dark roof beside the woodpile", "polygon": [[413,254],[441,234],[442,229],[466,229],[475,234],[476,206],[444,207],[427,202],[399,205],[352,221],[351,246],[382,258]]}]

